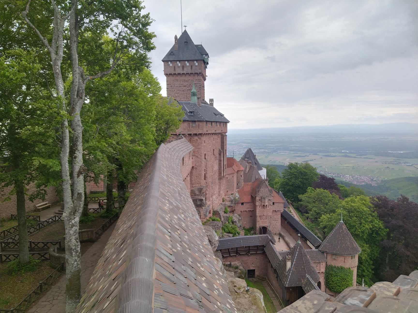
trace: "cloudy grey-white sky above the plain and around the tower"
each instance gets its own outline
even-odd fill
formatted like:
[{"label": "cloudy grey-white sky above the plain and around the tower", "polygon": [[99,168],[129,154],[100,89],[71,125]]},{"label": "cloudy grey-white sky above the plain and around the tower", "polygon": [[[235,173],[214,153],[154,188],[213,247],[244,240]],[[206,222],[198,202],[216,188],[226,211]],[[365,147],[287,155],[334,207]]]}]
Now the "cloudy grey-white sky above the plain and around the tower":
[{"label": "cloudy grey-white sky above the plain and around the tower", "polygon": [[[144,0],[151,71],[181,34],[180,0]],[[205,96],[231,129],[418,123],[418,1],[182,0],[209,53]]]}]

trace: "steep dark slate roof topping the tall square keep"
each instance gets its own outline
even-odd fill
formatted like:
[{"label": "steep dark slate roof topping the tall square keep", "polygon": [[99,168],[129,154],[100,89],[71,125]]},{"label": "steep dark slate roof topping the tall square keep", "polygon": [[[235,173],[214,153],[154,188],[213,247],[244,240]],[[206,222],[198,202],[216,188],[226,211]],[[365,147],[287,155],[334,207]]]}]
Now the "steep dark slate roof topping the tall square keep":
[{"label": "steep dark slate roof topping the tall square keep", "polygon": [[[185,43],[187,41],[187,43]],[[181,33],[177,40],[178,50],[174,50],[174,45],[168,50],[166,56],[161,61],[194,61],[204,60],[205,55],[209,57],[205,48],[201,44],[195,45],[186,30]]]}]

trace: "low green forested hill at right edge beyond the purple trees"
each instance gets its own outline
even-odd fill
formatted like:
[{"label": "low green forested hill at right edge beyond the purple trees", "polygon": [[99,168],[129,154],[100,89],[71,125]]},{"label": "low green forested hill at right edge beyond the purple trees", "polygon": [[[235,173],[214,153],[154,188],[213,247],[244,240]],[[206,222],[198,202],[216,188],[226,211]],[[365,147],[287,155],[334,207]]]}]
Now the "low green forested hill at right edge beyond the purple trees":
[{"label": "low green forested hill at right edge beyond the purple trees", "polygon": [[403,194],[408,197],[410,201],[418,202],[418,177],[387,179],[376,186],[371,184],[356,185],[339,179],[335,179],[335,182],[347,187],[354,186],[361,188],[369,196],[384,195],[390,199],[396,199]]}]

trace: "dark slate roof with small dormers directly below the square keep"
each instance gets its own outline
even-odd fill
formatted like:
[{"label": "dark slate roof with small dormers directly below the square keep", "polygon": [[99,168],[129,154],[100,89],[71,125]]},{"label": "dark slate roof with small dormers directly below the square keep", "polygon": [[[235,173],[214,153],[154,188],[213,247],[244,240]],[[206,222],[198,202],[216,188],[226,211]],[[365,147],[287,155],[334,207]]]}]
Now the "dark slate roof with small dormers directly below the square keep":
[{"label": "dark slate roof with small dormers directly below the square keep", "polygon": [[209,104],[201,103],[198,106],[195,102],[178,101],[184,111],[183,121],[214,121],[229,123],[228,119]]}]

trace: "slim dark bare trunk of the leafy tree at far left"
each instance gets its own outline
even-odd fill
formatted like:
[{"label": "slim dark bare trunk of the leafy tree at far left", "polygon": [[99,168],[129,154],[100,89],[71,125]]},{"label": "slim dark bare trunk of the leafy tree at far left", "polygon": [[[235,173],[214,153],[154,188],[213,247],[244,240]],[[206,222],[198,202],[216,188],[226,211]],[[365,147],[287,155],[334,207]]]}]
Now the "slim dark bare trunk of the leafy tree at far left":
[{"label": "slim dark bare trunk of the leafy tree at far left", "polygon": [[25,185],[22,181],[15,182],[16,188],[16,211],[18,215],[19,234],[19,263],[29,262],[28,225],[26,223],[25,208]]}]

